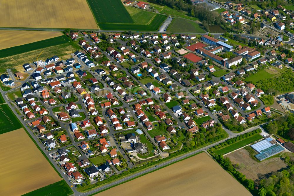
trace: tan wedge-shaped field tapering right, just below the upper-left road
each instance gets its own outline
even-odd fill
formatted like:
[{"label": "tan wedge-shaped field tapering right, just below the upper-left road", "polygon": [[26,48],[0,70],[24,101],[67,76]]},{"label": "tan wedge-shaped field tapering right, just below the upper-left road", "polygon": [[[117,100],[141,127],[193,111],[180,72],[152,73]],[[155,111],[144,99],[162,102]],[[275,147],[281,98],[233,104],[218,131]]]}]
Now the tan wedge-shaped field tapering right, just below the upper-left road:
[{"label": "tan wedge-shaped field tapering right, just below the upper-left road", "polygon": [[60,31],[10,31],[0,30],[0,50],[29,44],[63,35]]}]

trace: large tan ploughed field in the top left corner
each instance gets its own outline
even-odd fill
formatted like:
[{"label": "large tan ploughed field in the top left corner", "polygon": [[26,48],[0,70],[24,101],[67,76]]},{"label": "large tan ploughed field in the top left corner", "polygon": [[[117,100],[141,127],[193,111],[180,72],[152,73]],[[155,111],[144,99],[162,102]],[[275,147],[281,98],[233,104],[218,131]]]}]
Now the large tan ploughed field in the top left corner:
[{"label": "large tan ploughed field in the top left corner", "polygon": [[85,0],[1,0],[0,26],[97,29]]}]

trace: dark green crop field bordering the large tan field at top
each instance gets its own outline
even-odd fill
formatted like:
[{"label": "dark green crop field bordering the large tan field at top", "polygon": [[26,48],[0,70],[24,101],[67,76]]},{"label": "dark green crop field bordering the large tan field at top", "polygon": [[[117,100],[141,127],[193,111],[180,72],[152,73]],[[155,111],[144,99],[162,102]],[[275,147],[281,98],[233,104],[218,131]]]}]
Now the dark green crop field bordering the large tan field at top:
[{"label": "dark green crop field bordering the large tan field at top", "polygon": [[134,23],[120,0],[87,0],[98,23]]}]

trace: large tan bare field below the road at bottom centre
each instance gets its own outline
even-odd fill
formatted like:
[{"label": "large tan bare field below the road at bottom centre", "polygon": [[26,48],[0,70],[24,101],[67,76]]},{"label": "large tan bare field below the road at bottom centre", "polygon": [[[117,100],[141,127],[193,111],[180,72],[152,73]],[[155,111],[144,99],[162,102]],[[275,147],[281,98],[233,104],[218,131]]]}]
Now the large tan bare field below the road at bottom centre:
[{"label": "large tan bare field below the road at bottom centre", "polygon": [[128,195],[130,192],[140,192],[141,195],[154,195],[156,192],[156,195],[166,195],[168,192],[169,195],[195,195],[195,191],[197,195],[210,196],[251,195],[206,153],[174,163],[103,193]]}]

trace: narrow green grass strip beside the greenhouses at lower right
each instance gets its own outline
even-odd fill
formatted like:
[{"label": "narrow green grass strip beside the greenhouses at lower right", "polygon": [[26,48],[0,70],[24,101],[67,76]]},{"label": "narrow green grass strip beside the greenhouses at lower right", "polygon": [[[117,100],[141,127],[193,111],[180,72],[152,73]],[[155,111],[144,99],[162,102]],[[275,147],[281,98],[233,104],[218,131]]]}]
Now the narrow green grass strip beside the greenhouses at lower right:
[{"label": "narrow green grass strip beside the greenhouses at lower right", "polygon": [[224,147],[224,148],[222,148],[220,150],[216,150],[215,153],[217,155],[224,155],[224,154],[226,154],[228,152],[231,152],[233,150],[241,148],[241,147],[243,147],[243,146],[245,146],[247,144],[250,144],[250,143],[252,143],[252,142],[254,142],[254,141],[258,140],[258,139],[261,139],[261,138],[262,138],[262,136],[259,133],[257,133],[257,134],[254,134],[254,135],[250,136],[250,137],[247,137],[247,138],[245,138],[243,140],[235,142],[234,144],[231,144],[231,145],[229,145],[227,147]]}]

